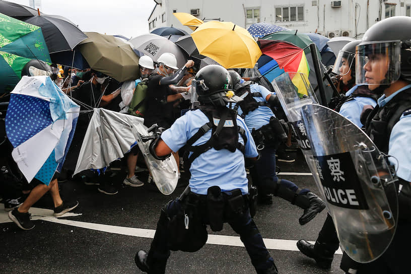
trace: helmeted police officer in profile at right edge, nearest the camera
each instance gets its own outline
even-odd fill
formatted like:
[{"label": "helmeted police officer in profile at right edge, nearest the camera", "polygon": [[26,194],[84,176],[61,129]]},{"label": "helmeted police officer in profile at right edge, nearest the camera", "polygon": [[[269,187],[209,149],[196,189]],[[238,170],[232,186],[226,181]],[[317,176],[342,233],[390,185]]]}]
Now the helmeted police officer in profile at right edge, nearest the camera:
[{"label": "helmeted police officer in profile at right edge, nearest the camera", "polygon": [[[411,244],[411,18],[384,19],[366,31],[357,47],[356,83],[384,88],[365,122],[378,149],[391,157],[398,181],[398,221],[392,242],[377,260],[361,264],[357,273],[404,273]],[[360,70],[362,68],[362,70]],[[343,255],[344,258],[345,255]],[[352,270],[341,268],[351,273]]]}]

